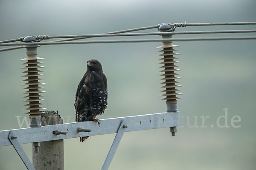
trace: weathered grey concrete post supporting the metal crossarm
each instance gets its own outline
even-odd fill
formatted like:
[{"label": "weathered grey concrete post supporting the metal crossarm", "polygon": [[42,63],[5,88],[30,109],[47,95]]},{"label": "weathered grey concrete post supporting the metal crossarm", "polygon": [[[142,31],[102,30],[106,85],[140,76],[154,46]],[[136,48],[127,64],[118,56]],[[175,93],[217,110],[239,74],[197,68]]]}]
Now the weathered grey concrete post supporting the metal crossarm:
[{"label": "weathered grey concrete post supporting the metal crossarm", "polygon": [[[44,111],[42,126],[62,124],[63,120],[55,111]],[[40,142],[39,153],[32,146],[32,162],[36,170],[64,170],[63,140]]]}]

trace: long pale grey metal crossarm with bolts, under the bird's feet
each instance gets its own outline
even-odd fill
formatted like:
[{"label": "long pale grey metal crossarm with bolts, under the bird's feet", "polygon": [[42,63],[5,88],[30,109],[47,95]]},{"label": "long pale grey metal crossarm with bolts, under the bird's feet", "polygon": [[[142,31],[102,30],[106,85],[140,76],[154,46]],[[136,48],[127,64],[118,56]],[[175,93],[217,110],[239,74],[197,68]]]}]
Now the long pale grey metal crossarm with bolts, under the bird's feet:
[{"label": "long pale grey metal crossarm with bolts, under the bird's feet", "polygon": [[[77,138],[81,136],[94,136],[110,133],[117,133],[119,126],[124,120],[126,125],[125,131],[157,129],[163,127],[176,127],[180,125],[179,112],[154,113],[140,116],[128,116],[111,119],[101,119],[99,127],[93,121],[90,122],[73,122],[59,125],[49,125],[42,127],[28,127],[15,130],[0,131],[0,146],[12,145],[8,136],[10,131],[15,133],[19,144],[44,142],[60,139]],[[78,128],[91,130],[91,132],[78,132]],[[66,134],[53,134],[53,132],[66,132]]]}]

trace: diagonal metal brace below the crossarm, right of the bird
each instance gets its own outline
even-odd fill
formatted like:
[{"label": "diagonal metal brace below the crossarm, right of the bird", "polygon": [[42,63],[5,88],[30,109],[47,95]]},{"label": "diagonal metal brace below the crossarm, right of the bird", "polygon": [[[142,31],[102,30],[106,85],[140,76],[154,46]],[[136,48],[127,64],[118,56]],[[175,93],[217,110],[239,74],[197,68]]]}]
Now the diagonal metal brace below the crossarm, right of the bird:
[{"label": "diagonal metal brace below the crossarm, right of the bird", "polygon": [[122,122],[121,122],[121,125],[116,133],[116,137],[113,141],[113,144],[108,152],[108,156],[102,166],[102,170],[108,170],[108,167],[113,159],[113,156],[114,154],[116,153],[116,149],[121,141],[121,138],[123,136],[123,134],[125,133],[125,129],[127,128],[128,126],[126,125],[126,122],[125,120],[123,119]]}]

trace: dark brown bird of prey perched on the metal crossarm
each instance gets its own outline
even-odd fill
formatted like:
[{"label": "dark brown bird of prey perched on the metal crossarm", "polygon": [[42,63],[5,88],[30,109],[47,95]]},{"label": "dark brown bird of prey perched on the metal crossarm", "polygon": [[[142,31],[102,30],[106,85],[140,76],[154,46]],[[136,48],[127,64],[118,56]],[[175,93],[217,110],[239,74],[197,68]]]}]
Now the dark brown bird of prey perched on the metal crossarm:
[{"label": "dark brown bird of prey perched on the metal crossarm", "polygon": [[[108,105],[107,99],[107,78],[102,71],[102,65],[98,60],[90,59],[87,61],[87,71],[76,90],[76,122],[94,121],[100,125],[96,116],[104,113]],[[80,137],[80,142],[88,137]]]}]

